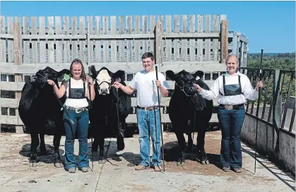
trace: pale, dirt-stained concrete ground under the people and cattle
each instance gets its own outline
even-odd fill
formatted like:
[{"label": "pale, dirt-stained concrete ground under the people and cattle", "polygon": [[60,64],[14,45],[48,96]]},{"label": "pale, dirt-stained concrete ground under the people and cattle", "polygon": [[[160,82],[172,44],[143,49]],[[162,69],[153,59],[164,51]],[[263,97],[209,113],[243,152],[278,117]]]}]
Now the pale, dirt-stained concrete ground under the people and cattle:
[{"label": "pale, dirt-stained concrete ground under the people and cattle", "polygon": [[[223,172],[219,163],[220,131],[206,133],[208,165],[198,162],[194,153],[187,153],[184,167],[178,167],[175,162],[177,139],[173,133],[164,133],[163,137],[164,173],[153,169],[134,170],[141,161],[138,135],[134,135],[134,138],[125,138],[126,148],[120,152],[117,152],[116,139],[107,138],[105,151],[108,149],[109,162],[98,164],[94,154],[93,172],[69,174],[53,165],[53,136],[45,138],[49,154],[38,157],[37,167],[29,167],[30,135],[1,133],[1,191],[295,191],[295,178],[261,157],[254,174],[254,151],[244,143],[242,173]],[[62,137],[60,147],[63,160],[64,139]],[[78,140],[75,154],[78,155]],[[89,154],[92,160],[91,152]]]}]

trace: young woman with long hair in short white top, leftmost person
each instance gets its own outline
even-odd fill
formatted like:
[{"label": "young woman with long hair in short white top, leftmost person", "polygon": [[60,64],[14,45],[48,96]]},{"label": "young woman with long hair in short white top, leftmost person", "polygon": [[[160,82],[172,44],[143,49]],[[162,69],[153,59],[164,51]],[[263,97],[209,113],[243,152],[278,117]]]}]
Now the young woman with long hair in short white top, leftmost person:
[{"label": "young woman with long hair in short white top, leftmost person", "polygon": [[[74,59],[70,66],[70,76],[64,77],[61,88],[57,88],[57,85],[52,80],[47,80],[47,83],[53,86],[59,98],[66,93],[66,112],[64,112],[66,170],[69,173],[76,172],[73,148],[75,138],[73,136],[75,136],[77,131],[79,141],[78,169],[81,169],[82,172],[88,172],[88,100],[93,101],[95,99],[93,79],[90,77],[86,78],[82,61]],[[90,83],[91,98],[87,83]],[[73,125],[70,123],[71,120],[74,122]]]}]

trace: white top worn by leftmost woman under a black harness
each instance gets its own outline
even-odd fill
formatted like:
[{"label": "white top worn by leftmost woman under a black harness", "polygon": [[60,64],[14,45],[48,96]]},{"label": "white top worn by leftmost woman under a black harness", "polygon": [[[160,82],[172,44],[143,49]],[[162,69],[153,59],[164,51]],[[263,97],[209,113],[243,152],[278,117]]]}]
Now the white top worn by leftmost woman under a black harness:
[{"label": "white top worn by leftmost woman under a black harness", "polygon": [[[73,78],[69,79],[71,80],[71,88],[83,88],[83,80],[75,80]],[[64,86],[66,88],[66,102],[65,105],[68,107],[88,107],[88,100],[86,98],[83,99],[71,99],[69,98],[69,81],[64,83]],[[88,91],[88,84],[85,82],[85,95]]]}]

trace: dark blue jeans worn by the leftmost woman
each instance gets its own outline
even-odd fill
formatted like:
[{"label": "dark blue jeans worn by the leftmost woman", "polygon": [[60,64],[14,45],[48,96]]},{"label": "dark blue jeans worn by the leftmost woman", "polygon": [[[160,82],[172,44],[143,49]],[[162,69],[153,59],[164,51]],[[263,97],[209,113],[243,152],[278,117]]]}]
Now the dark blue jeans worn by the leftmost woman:
[{"label": "dark blue jeans worn by the leftmost woman", "polygon": [[[79,153],[78,153],[78,167],[88,167],[88,112],[80,112],[76,114],[75,111],[65,109],[74,124],[71,124],[69,116],[64,112],[64,126],[66,129],[65,140],[65,164],[66,169],[76,168],[76,160],[74,157],[74,141],[75,133],[78,132]],[[72,130],[73,129],[73,133]],[[74,136],[74,138],[73,138]]]}]

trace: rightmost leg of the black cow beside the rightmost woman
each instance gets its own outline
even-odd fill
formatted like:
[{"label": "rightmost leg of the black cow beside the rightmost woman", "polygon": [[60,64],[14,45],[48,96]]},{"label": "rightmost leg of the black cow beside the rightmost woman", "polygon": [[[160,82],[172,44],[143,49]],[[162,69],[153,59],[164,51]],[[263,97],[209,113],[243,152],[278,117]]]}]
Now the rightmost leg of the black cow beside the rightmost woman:
[{"label": "rightmost leg of the black cow beside the rightmost woman", "polygon": [[208,123],[203,124],[204,126],[199,126],[199,134],[197,135],[197,151],[201,154],[201,164],[209,164],[208,157],[206,156],[205,150],[205,136],[206,129],[208,128]]}]

